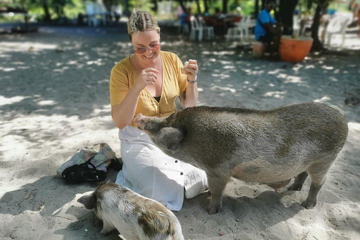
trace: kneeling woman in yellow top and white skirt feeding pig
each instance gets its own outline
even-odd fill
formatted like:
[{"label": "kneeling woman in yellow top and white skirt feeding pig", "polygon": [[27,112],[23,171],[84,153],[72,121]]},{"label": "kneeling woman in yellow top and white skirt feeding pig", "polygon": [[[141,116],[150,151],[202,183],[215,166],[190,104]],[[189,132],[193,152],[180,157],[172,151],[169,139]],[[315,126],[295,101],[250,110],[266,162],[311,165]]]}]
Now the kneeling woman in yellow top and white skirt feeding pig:
[{"label": "kneeling woman in yellow top and white skirt feeding pig", "polygon": [[176,54],[160,50],[160,28],[147,11],[133,11],[127,31],[134,53],[111,69],[109,87],[123,160],[116,183],[180,210],[184,194],[194,197],[207,188],[205,172],[164,154],[132,119],[138,113],[171,114],[177,95],[184,105],[194,106],[197,62],[189,59],[183,66]]}]

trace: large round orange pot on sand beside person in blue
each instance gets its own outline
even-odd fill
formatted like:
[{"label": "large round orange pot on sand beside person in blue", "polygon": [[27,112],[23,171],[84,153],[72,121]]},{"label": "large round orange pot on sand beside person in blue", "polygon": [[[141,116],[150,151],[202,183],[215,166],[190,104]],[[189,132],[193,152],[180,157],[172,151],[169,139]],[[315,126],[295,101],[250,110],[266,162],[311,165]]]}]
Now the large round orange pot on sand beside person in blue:
[{"label": "large round orange pot on sand beside person in blue", "polygon": [[281,60],[288,62],[302,61],[310,51],[312,38],[281,36],[279,55]]}]

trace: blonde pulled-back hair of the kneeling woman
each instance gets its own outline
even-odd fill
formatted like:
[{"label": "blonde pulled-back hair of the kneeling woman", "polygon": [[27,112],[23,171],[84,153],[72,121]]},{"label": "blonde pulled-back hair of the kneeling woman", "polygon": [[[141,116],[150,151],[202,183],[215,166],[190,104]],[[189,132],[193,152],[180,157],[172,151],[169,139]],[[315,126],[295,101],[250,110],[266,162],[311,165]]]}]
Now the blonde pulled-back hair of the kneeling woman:
[{"label": "blonde pulled-back hair of the kneeling woman", "polygon": [[156,30],[160,33],[160,27],[157,25],[155,17],[148,11],[132,11],[127,21],[127,33],[131,40],[132,34],[140,31]]}]

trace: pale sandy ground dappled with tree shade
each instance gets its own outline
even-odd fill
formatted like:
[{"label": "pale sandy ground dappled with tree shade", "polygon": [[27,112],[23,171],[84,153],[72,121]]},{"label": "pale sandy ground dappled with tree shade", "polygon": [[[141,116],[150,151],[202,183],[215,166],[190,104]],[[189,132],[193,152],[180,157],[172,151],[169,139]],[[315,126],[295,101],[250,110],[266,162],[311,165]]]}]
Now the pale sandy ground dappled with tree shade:
[{"label": "pale sandy ground dappled with tree shade", "polygon": [[[68,184],[56,168],[80,147],[106,142],[119,157],[109,72],[131,54],[125,26],[39,27],[0,34],[0,239],[120,239],[76,200],[98,182]],[[223,209],[209,193],[174,212],[185,239],[360,239],[360,38],[346,36],[300,63],[254,58],[237,42],[189,42],[161,33],[161,49],[199,63],[198,105],[254,109],[317,101],[341,111],[348,137],[313,209],[301,191],[231,179]],[[357,99],[357,102],[356,102]],[[346,103],[347,104],[346,104]],[[352,104],[351,104],[352,103]],[[110,169],[107,179],[114,178]],[[293,180],[291,180],[292,183]]]}]

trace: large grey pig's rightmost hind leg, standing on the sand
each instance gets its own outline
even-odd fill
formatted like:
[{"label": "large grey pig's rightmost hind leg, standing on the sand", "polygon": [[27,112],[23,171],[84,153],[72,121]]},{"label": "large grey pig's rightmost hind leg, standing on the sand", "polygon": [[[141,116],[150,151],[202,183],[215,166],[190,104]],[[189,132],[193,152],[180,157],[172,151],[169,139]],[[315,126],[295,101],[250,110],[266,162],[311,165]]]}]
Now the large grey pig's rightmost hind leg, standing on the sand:
[{"label": "large grey pig's rightmost hind leg, standing on the sand", "polygon": [[311,177],[311,185],[306,200],[301,204],[306,209],[311,209],[316,205],[318,192],[325,181],[326,173],[330,168],[331,162],[329,162],[330,164],[328,162],[317,163],[307,169],[307,172]]}]

